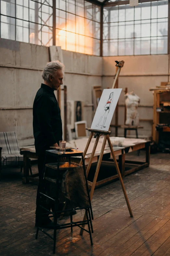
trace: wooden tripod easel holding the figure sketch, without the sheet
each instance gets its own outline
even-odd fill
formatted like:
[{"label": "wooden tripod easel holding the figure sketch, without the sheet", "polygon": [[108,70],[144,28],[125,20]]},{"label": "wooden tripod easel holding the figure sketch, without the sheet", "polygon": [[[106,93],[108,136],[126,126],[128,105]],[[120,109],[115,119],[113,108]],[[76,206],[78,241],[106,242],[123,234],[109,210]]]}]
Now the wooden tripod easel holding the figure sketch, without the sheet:
[{"label": "wooden tripod easel holding the figure sketch, without the sheet", "polygon": [[[119,77],[121,68],[124,66],[124,61],[123,60],[122,61],[115,61],[115,62],[117,63],[116,66],[118,67],[118,70],[117,70],[116,77],[115,77],[114,82],[113,82],[112,89],[115,88],[116,80]],[[94,189],[95,189],[95,186],[96,186],[96,181],[97,181],[97,178],[98,178],[98,172],[99,172],[101,161],[102,161],[102,158],[103,158],[103,153],[104,153],[105,145],[106,145],[106,142],[108,141],[108,144],[109,144],[109,147],[110,147],[110,150],[111,150],[111,155],[112,155],[115,167],[116,167],[116,171],[117,171],[118,177],[120,179],[120,183],[121,183],[121,186],[122,186],[122,190],[123,190],[123,193],[124,193],[126,204],[127,204],[130,216],[133,217],[133,213],[132,213],[132,210],[130,208],[129,200],[127,198],[126,190],[125,190],[124,183],[123,183],[123,180],[122,180],[122,176],[121,176],[121,173],[120,173],[120,170],[119,170],[119,166],[117,164],[116,157],[115,157],[115,154],[114,154],[114,151],[113,151],[113,148],[112,148],[112,145],[111,145],[111,141],[110,141],[110,138],[109,138],[109,135],[111,134],[111,131],[101,131],[101,130],[96,130],[96,129],[91,129],[91,128],[87,128],[87,130],[90,131],[91,134],[89,136],[87,145],[85,147],[85,151],[83,153],[83,157],[84,158],[85,158],[85,155],[87,153],[88,147],[90,145],[91,139],[92,139],[94,134],[95,134],[94,138],[96,138],[96,141],[95,141],[95,144],[94,144],[94,147],[93,147],[93,151],[92,151],[92,154],[90,156],[89,163],[88,163],[87,169],[86,169],[87,177],[88,177],[88,173],[89,173],[89,170],[90,170],[90,167],[91,167],[91,164],[92,164],[92,160],[93,160],[93,157],[94,157],[97,145],[98,145],[99,138],[100,138],[101,135],[104,135],[104,140],[103,140],[103,144],[102,144],[102,147],[101,147],[101,151],[100,151],[100,155],[99,155],[99,159],[98,159],[98,164],[97,164],[97,167],[96,167],[96,172],[95,172],[95,176],[94,176],[93,182],[88,181],[88,185],[91,186],[90,200],[93,197]],[[80,164],[82,164],[82,160],[80,161]],[[92,219],[93,219],[93,215],[92,215]],[[84,215],[84,220],[86,220],[86,215]],[[82,227],[84,227],[84,226],[82,226]],[[81,229],[80,235],[83,234],[83,231],[84,230]]]}]

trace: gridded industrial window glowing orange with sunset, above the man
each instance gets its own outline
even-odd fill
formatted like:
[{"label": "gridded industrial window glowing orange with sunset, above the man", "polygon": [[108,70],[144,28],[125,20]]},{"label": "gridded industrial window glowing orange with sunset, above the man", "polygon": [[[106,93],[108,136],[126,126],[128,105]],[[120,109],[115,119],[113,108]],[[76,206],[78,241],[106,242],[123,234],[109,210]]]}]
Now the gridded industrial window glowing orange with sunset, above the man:
[{"label": "gridded industrial window glowing orange with sunset, above the man", "polygon": [[84,0],[58,0],[56,8],[56,44],[100,55],[100,7]]}]

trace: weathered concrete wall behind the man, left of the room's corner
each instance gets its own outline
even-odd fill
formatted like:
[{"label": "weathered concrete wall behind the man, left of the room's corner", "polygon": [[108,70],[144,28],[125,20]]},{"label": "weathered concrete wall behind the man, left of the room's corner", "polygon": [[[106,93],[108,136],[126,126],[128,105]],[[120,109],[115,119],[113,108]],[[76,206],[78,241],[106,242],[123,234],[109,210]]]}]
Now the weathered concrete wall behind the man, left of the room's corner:
[{"label": "weathered concrete wall behind the man, left of the room's corner", "polygon": [[[101,85],[102,58],[63,50],[63,59],[68,100],[91,103],[91,86]],[[48,61],[48,47],[0,38],[0,132],[14,130],[20,146],[34,143],[33,100]],[[84,118],[90,126],[91,107]]]}]

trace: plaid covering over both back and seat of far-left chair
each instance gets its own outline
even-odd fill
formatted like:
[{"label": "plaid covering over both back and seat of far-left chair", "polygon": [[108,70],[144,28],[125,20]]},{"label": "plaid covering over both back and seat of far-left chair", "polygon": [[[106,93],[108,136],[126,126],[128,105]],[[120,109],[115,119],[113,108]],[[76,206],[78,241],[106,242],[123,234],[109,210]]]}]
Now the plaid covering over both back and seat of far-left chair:
[{"label": "plaid covering over both back and seat of far-left chair", "polygon": [[23,156],[14,131],[0,132],[0,146],[2,147],[1,165],[21,165]]}]

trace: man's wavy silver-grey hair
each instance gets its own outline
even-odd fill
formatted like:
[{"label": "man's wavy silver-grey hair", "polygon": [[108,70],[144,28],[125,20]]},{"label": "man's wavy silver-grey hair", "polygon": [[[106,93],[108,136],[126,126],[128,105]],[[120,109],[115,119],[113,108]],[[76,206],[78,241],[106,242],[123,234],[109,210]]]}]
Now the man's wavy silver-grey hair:
[{"label": "man's wavy silver-grey hair", "polygon": [[45,68],[43,69],[42,77],[45,81],[49,81],[50,76],[55,77],[57,71],[59,69],[64,70],[64,68],[64,64],[59,62],[59,60],[47,62]]}]

